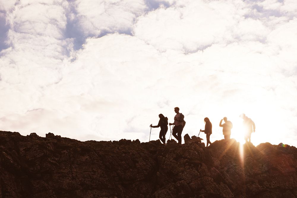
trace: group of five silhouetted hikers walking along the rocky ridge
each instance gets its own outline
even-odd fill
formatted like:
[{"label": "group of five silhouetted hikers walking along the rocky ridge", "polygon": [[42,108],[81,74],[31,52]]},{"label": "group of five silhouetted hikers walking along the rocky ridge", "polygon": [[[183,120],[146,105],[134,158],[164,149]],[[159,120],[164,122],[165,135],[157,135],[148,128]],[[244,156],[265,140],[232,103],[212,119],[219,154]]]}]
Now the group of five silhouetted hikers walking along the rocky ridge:
[{"label": "group of five silhouetted hikers walking along the rocky ridge", "polygon": [[[169,126],[174,125],[172,129],[172,135],[173,137],[178,140],[178,144],[181,144],[181,133],[184,129],[184,126],[186,122],[184,121],[184,115],[182,113],[179,113],[179,108],[175,107],[174,112],[176,115],[174,116],[174,122],[169,123]],[[255,123],[252,121],[251,118],[248,118],[244,113],[240,115],[240,117],[243,119],[243,127],[244,127],[244,140],[246,142],[251,142],[251,134],[252,132],[255,132]],[[165,135],[168,131],[168,118],[165,117],[163,114],[159,114],[159,123],[157,126],[153,126],[152,124],[150,125],[151,128],[158,128],[160,127],[160,133],[159,133],[159,138],[163,142],[163,144],[166,144],[166,139]],[[222,121],[224,123],[222,124]],[[204,132],[206,134],[206,146],[211,145],[210,142],[210,135],[212,134],[212,124],[209,120],[209,118],[204,118],[204,123],[205,127],[204,130],[200,129],[200,132]],[[231,135],[231,129],[233,128],[232,122],[228,121],[227,117],[224,117],[221,119],[220,127],[223,127],[223,135],[225,140],[230,140],[230,135]],[[170,132],[171,132],[171,127],[170,127]],[[199,134],[200,134],[199,132]],[[198,136],[199,136],[198,134]]]}]

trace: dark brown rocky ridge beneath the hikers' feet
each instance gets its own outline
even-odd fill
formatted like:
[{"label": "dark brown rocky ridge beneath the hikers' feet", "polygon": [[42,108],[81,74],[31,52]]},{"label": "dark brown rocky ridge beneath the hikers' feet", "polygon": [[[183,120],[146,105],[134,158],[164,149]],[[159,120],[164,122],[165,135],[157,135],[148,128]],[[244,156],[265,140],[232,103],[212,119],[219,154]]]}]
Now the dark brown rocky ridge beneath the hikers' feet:
[{"label": "dark brown rocky ridge beneath the hikers' feet", "polygon": [[295,147],[184,140],[0,132],[0,197],[297,197]]}]

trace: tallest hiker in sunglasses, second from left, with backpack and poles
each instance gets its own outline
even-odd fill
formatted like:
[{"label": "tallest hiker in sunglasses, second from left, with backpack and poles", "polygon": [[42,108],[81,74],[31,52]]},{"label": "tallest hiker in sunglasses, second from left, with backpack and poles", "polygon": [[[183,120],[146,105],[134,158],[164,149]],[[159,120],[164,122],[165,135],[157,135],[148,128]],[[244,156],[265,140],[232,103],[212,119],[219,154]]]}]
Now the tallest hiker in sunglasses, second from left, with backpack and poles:
[{"label": "tallest hiker in sunglasses, second from left, with backpack and poles", "polygon": [[169,123],[169,125],[174,125],[172,135],[178,140],[178,144],[181,144],[181,132],[183,132],[186,122],[184,121],[184,115],[179,113],[178,107],[174,108],[174,112],[176,113],[174,116],[174,123]]}]

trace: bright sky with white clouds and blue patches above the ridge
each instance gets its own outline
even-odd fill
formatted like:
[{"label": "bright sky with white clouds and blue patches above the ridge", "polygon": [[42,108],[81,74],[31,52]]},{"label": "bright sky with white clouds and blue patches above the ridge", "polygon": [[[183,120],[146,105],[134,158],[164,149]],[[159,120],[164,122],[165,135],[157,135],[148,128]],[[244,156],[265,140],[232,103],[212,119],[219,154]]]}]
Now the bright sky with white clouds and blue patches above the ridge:
[{"label": "bright sky with white clouds and blue patches above the ridge", "polygon": [[2,131],[148,142],[179,107],[297,145],[296,0],[0,0],[0,50]]}]

